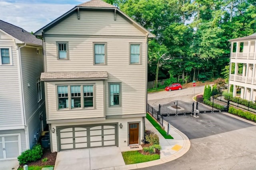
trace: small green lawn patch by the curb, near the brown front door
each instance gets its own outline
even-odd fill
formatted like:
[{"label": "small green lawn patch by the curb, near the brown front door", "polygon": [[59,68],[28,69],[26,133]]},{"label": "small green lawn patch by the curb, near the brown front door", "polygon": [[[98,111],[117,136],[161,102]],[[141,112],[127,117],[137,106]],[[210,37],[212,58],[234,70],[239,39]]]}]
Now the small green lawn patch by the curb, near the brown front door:
[{"label": "small green lawn patch by the curb, near the brown front door", "polygon": [[141,162],[148,162],[156,159],[160,159],[160,155],[143,155],[138,150],[122,152],[125,164],[137,164]]}]

